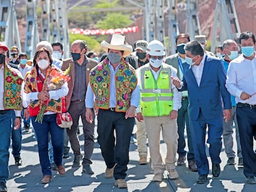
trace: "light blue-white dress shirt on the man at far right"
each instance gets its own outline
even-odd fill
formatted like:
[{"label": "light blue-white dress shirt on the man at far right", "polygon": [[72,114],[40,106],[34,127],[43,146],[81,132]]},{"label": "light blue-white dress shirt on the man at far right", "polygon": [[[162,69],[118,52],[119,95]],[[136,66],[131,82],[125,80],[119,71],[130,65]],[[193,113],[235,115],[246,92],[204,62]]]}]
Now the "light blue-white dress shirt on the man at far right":
[{"label": "light blue-white dress shirt on the man at far right", "polygon": [[[256,57],[250,61],[241,55],[229,63],[226,88],[236,96],[236,103],[256,104]],[[252,96],[242,100],[243,91]]]}]

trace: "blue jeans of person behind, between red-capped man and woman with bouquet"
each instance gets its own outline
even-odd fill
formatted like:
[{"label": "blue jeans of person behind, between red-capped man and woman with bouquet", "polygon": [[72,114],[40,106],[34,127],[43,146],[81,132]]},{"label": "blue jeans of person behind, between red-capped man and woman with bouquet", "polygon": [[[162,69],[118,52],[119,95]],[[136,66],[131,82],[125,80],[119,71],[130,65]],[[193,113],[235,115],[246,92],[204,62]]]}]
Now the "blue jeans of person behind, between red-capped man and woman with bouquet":
[{"label": "blue jeans of person behind, between red-capped man and woman with bouquet", "polygon": [[22,130],[21,126],[18,130],[14,130],[15,127],[15,112],[12,111],[12,155],[15,157],[20,157],[21,144],[22,144]]}]

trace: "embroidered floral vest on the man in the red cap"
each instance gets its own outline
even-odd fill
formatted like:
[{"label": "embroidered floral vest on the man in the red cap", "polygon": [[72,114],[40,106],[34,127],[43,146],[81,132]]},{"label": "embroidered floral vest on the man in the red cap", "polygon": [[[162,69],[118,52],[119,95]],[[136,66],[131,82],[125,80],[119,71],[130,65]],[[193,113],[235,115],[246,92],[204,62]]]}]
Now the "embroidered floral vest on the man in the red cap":
[{"label": "embroidered floral vest on the man in the red cap", "polygon": [[23,79],[12,67],[4,64],[4,109],[22,110],[20,90]]}]

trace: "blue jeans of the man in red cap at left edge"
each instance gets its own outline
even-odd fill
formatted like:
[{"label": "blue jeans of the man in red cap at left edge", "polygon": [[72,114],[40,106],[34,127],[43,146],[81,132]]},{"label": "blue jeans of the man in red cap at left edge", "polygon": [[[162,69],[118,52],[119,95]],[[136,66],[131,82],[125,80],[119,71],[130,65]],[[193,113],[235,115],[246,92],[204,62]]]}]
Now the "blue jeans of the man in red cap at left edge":
[{"label": "blue jeans of the man in red cap at left edge", "polygon": [[12,110],[0,114],[0,182],[6,183],[9,177],[9,147],[12,131]]}]

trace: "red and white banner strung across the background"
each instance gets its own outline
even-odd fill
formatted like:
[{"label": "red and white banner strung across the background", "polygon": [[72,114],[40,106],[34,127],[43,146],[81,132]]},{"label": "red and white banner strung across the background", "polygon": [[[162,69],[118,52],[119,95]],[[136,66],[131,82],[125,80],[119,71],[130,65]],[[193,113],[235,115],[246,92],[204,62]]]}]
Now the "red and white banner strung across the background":
[{"label": "red and white banner strung across the background", "polygon": [[135,33],[139,31],[138,26],[127,27],[127,28],[116,28],[109,30],[83,30],[82,28],[72,28],[72,34],[81,34],[81,35],[112,35],[112,34],[124,34],[124,33]]}]

